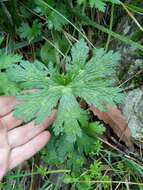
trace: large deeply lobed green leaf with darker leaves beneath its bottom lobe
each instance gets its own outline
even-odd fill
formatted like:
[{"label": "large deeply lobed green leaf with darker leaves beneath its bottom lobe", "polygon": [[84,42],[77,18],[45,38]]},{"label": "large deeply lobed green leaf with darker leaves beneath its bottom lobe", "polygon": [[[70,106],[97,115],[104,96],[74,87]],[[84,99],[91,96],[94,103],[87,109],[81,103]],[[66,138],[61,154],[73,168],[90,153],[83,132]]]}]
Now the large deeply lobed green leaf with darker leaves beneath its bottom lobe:
[{"label": "large deeply lobed green leaf with darker leaves beneath its bottom lobe", "polygon": [[[77,164],[82,165],[81,154],[92,152],[96,147],[87,135],[89,130],[86,130],[90,115],[81,108],[80,101],[105,110],[107,104],[115,104],[122,99],[120,89],[113,87],[113,73],[120,55],[95,49],[93,57],[89,59],[88,52],[89,48],[82,39],[72,47],[71,57],[66,58],[62,67],[54,67],[51,62],[46,67],[39,61],[30,63],[23,60],[19,65],[14,64],[7,69],[9,79],[22,89],[36,89],[33,93],[17,96],[21,102],[14,111],[17,118],[25,122],[35,119],[39,124],[57,107],[52,126],[54,137],[49,143],[48,159],[52,162],[63,162],[67,156],[74,155]],[[92,123],[90,127],[95,128],[95,134],[100,134],[102,127],[99,130],[100,126],[97,125]],[[79,149],[79,156],[75,147]]]}]

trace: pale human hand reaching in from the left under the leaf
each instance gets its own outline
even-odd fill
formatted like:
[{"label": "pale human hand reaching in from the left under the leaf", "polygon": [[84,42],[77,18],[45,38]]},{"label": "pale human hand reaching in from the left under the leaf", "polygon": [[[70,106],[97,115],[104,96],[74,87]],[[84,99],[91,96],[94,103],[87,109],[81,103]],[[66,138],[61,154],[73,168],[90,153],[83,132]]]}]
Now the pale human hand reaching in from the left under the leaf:
[{"label": "pale human hand reaching in from the left under the leaf", "polygon": [[0,180],[7,171],[15,168],[40,151],[50,140],[46,130],[54,121],[53,110],[38,127],[34,122],[23,124],[13,116],[15,97],[0,97]]}]

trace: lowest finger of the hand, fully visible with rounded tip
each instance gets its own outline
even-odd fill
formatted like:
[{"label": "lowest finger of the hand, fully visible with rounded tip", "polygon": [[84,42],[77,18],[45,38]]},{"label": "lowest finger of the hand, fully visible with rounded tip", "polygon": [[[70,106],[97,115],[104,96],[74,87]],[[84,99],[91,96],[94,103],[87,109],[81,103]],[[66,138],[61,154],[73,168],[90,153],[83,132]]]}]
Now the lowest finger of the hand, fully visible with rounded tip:
[{"label": "lowest finger of the hand, fully visible with rounded tip", "polygon": [[28,143],[13,149],[10,155],[9,169],[13,169],[25,160],[31,158],[47,144],[49,139],[50,133],[44,131]]}]

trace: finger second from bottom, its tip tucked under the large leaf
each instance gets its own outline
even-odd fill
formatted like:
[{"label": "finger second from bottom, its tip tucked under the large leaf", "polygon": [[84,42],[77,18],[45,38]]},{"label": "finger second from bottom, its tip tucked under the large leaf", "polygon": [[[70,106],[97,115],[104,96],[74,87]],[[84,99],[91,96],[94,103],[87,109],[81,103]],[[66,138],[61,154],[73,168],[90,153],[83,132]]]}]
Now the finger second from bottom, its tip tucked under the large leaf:
[{"label": "finger second from bottom, its tip tucked under the large leaf", "polygon": [[56,111],[53,110],[50,117],[48,117],[42,124],[35,126],[34,121],[24,126],[15,128],[8,132],[8,142],[11,148],[23,145],[31,140],[33,137],[40,134],[55,120]]}]

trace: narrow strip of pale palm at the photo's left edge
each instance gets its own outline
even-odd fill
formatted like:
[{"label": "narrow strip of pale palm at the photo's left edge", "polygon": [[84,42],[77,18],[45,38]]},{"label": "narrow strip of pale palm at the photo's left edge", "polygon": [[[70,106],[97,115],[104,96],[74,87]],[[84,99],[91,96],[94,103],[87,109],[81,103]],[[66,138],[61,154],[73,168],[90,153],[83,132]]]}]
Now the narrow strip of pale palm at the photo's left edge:
[{"label": "narrow strip of pale palm at the photo's left edge", "polygon": [[9,166],[10,147],[7,141],[7,128],[0,122],[0,180]]}]

